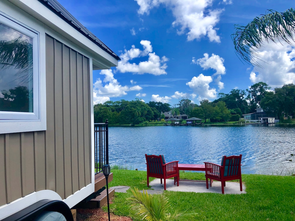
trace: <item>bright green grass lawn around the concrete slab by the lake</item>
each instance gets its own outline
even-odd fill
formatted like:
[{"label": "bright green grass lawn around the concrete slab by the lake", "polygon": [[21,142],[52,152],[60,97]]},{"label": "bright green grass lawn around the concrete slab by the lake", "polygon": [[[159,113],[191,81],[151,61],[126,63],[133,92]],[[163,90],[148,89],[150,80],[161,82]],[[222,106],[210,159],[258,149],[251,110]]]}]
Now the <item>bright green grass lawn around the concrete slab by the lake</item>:
[{"label": "bright green grass lawn around the concrete slab by the lake", "polygon": [[[138,189],[148,188],[146,171],[112,169],[112,186],[130,186]],[[204,173],[181,172],[181,179],[204,180]],[[152,181],[153,178],[150,178]],[[218,194],[164,191],[171,203],[171,213],[196,212],[192,220],[291,220],[295,221],[295,177],[243,174],[246,194]],[[204,185],[206,185],[204,183]],[[221,188],[221,187],[220,187]],[[110,210],[116,215],[130,215],[131,195],[115,193]],[[107,207],[103,207],[107,211]]]}]

